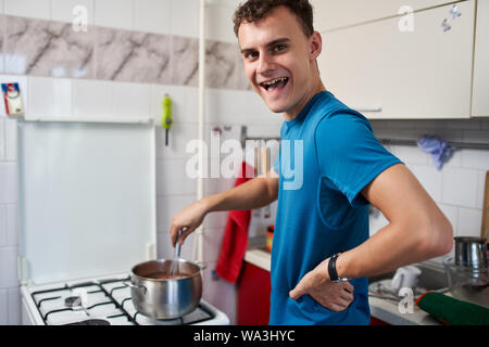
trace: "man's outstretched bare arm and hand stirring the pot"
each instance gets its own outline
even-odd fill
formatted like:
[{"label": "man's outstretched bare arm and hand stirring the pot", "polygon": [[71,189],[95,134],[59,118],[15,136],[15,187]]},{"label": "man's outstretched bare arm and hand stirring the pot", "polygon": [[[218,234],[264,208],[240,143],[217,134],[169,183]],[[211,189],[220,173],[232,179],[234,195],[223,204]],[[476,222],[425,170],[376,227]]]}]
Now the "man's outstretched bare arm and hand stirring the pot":
[{"label": "man's outstretched bare arm and hand stirring the pot", "polygon": [[184,229],[180,239],[184,242],[209,213],[260,208],[276,201],[277,196],[278,175],[272,169],[266,176],[253,178],[238,187],[197,201],[173,217],[170,227],[172,244],[175,245],[179,229]]}]

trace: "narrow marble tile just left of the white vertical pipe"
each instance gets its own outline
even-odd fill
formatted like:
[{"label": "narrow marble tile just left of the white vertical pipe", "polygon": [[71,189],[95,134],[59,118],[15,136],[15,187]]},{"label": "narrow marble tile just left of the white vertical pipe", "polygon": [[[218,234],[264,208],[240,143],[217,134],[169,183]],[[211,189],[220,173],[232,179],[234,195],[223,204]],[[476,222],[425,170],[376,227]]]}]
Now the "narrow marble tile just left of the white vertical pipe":
[{"label": "narrow marble tile just left of the white vertical pipe", "polygon": [[199,85],[199,40],[174,36],[172,42],[172,85]]}]

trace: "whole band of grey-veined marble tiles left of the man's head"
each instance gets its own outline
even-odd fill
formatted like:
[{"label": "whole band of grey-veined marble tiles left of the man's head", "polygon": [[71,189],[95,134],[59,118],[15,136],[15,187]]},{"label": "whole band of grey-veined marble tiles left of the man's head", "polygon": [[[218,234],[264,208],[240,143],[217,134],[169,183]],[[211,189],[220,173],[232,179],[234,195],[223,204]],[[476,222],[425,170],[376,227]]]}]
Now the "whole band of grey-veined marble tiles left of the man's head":
[{"label": "whole band of grey-veined marble tiles left of the man's head", "polygon": [[[4,74],[199,83],[199,40],[191,37],[96,26],[76,31],[70,23],[0,15],[0,50]],[[251,89],[236,43],[208,40],[205,60],[206,87]]]}]

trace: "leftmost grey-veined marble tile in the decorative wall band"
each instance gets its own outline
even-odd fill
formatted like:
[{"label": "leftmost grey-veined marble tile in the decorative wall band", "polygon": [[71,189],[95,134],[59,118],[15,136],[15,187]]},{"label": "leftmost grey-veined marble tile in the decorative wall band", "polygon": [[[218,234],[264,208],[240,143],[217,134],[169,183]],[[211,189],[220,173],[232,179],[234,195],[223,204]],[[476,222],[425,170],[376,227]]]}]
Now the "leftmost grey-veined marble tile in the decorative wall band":
[{"label": "leftmost grey-veined marble tile in the decorative wall band", "polygon": [[4,16],[5,73],[92,78],[95,30],[71,24]]}]

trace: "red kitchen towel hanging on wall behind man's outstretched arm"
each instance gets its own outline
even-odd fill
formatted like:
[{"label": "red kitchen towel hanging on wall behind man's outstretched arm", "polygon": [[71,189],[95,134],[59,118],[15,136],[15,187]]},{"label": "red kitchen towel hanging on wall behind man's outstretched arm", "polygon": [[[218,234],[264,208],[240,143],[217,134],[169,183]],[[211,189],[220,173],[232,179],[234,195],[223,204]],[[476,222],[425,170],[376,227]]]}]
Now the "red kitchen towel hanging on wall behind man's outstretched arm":
[{"label": "red kitchen towel hanging on wall behind man's outstretched arm", "polygon": [[[235,187],[244,183],[251,179],[247,177],[252,167],[242,162],[241,175],[236,180]],[[250,226],[251,210],[230,210],[227,217],[226,230],[224,232],[223,245],[221,247],[220,258],[215,271],[217,274],[235,283],[241,271],[242,258],[248,246],[248,227]]]}]

